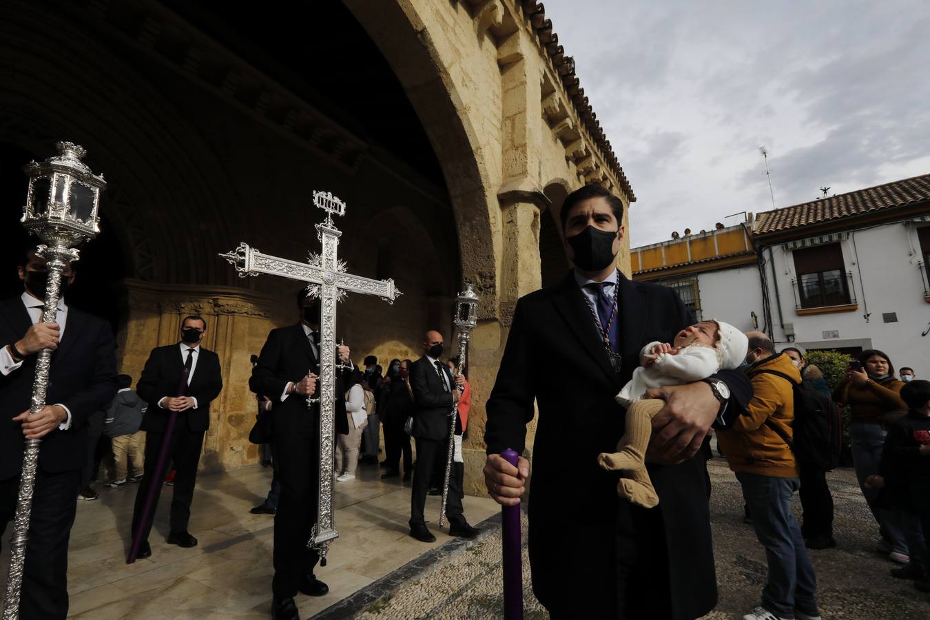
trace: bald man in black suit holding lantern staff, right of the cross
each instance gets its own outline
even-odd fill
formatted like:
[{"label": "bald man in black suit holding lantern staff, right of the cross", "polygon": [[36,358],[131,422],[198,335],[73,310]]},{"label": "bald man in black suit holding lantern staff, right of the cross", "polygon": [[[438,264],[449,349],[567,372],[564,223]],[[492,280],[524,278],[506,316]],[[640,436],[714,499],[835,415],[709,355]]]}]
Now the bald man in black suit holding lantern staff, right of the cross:
[{"label": "bald man in black suit holding lantern staff, right of the cross", "polygon": [[[452,376],[449,367],[439,361],[443,354],[443,335],[427,332],[423,341],[423,357],[410,368],[410,389],[413,392],[413,436],[417,442],[417,465],[414,468],[410,495],[410,535],[424,543],[436,537],[426,527],[423,509],[430,488],[433,468],[445,463],[449,446],[449,414],[458,402],[458,389],[464,379]],[[461,441],[462,421],[456,416],[457,442]],[[460,446],[459,446],[460,449]],[[444,477],[445,477],[445,466]],[[462,468],[453,463],[449,476],[449,495],[445,505],[449,520],[449,535],[474,538],[478,530],[465,521],[462,508]]]}]

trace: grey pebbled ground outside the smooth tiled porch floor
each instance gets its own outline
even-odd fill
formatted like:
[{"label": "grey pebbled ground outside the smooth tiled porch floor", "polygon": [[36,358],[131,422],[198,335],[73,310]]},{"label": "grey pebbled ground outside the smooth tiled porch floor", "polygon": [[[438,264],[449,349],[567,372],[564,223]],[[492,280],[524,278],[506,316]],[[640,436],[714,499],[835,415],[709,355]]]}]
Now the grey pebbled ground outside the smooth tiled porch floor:
[{"label": "grey pebbled ground outside the smooth tiled porch floor", "polygon": [[[714,459],[710,465],[720,603],[706,617],[740,618],[758,603],[765,581],[764,552],[752,526],[742,522],[742,496],[733,474],[722,459]],[[812,552],[823,617],[930,618],[927,596],[915,590],[910,582],[892,578],[888,570],[894,565],[875,552],[877,527],[859,493],[852,469],[831,472],[828,479],[836,504],[834,526],[839,547]],[[800,508],[797,496],[795,508]],[[434,556],[425,569],[421,563],[411,571],[413,574],[398,575],[391,587],[372,590],[368,593],[369,601],[352,617],[365,620],[502,617],[500,534],[494,527],[498,522],[485,524],[488,532],[478,541],[450,547]],[[528,566],[524,551],[525,617],[547,618],[548,614],[533,597]],[[347,611],[330,615],[347,617]]]}]

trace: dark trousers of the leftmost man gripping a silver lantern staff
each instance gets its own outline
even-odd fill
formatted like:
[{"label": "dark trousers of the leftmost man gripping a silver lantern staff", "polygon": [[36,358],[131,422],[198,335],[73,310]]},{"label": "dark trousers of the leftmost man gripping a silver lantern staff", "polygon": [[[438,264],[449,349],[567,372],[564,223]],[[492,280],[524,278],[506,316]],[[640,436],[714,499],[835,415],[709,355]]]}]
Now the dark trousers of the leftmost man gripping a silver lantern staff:
[{"label": "dark trousers of the leftmost man gripping a silver lantern staff", "polygon": [[[35,477],[33,511],[26,543],[20,618],[64,620],[68,615],[68,540],[77,507],[80,471]],[[20,477],[0,481],[0,536],[16,514]]]}]

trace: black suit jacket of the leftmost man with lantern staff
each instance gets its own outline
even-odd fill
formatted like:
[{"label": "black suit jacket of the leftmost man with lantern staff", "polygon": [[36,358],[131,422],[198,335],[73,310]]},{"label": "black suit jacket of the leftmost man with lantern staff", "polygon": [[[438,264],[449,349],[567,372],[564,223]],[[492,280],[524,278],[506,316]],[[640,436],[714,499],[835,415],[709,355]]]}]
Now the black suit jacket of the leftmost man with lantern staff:
[{"label": "black suit jacket of the leftmost man with lantern staff", "polygon": [[[0,347],[15,343],[32,325],[20,297],[0,302]],[[71,428],[55,429],[42,439],[39,467],[60,473],[84,467],[87,456],[87,419],[116,394],[113,330],[95,316],[68,309],[64,337],[52,355],[46,404],[64,404],[71,411]],[[0,480],[19,475],[25,443],[20,422],[10,420],[29,409],[33,396],[35,360],[0,376]]]}]

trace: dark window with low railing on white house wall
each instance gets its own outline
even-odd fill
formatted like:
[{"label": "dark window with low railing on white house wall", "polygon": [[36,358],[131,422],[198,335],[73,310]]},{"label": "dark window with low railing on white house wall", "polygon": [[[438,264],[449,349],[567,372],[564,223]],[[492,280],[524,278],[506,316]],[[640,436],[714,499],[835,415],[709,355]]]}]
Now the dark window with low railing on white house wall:
[{"label": "dark window with low railing on white house wall", "polygon": [[794,269],[801,308],[825,308],[851,303],[843,250],[824,244],[794,250]]}]

